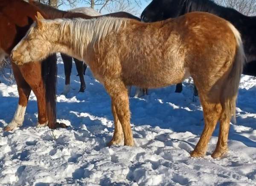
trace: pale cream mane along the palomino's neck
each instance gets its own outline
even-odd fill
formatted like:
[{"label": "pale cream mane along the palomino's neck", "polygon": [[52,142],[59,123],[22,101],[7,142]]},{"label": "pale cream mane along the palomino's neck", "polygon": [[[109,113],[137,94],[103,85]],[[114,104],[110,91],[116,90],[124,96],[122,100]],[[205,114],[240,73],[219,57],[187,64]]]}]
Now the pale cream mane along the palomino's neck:
[{"label": "pale cream mane along the palomino's neck", "polygon": [[[47,20],[49,21],[49,20]],[[128,19],[115,17],[100,17],[97,19],[56,19],[60,23],[59,29],[61,39],[64,39],[67,29],[70,31],[71,47],[73,47],[83,59],[84,51],[88,45],[98,44],[110,32],[117,33],[121,28],[126,27]]]}]

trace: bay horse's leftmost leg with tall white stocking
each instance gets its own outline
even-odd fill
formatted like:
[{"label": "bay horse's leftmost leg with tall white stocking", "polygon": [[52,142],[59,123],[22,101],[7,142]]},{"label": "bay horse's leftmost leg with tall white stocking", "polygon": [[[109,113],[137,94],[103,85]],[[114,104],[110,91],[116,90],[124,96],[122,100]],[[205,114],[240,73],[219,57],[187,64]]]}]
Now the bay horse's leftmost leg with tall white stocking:
[{"label": "bay horse's leftmost leg with tall white stocking", "polygon": [[15,129],[18,126],[22,126],[24,121],[26,106],[29,100],[29,94],[31,92],[31,88],[22,77],[22,74],[18,66],[12,63],[12,69],[13,69],[13,74],[17,83],[17,89],[19,92],[19,103],[12,121],[4,129],[5,131],[10,131]]}]

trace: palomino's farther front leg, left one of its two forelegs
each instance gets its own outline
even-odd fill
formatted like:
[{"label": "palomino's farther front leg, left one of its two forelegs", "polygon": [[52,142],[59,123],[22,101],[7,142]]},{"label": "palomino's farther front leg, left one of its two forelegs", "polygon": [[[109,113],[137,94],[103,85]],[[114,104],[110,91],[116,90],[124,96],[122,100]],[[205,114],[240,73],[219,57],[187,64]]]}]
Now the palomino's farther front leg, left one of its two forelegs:
[{"label": "palomino's farther front leg, left one of its two forelegs", "polygon": [[116,108],[113,104],[113,100],[111,103],[111,107],[112,107],[112,113],[113,113],[113,117],[114,117],[115,130],[114,130],[113,138],[108,143],[108,146],[120,144],[124,140],[124,133],[122,131],[122,125],[117,117]]}]

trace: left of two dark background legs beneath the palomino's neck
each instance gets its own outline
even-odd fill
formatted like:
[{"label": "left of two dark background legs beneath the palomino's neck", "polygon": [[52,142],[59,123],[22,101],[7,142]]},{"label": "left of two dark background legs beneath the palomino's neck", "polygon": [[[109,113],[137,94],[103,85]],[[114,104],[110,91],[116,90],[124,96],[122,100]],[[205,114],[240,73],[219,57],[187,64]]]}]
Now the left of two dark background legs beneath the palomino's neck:
[{"label": "left of two dark background legs beneath the palomino's neck", "polygon": [[70,92],[70,75],[72,70],[72,57],[61,53],[61,58],[64,63],[64,71],[65,71],[65,86],[62,94],[67,94]]}]

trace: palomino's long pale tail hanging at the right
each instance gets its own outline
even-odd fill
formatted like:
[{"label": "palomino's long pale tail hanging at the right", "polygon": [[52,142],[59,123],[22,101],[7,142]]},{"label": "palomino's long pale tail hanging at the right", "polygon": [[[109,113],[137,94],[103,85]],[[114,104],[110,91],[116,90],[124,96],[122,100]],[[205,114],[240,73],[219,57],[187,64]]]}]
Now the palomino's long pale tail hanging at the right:
[{"label": "palomino's long pale tail hanging at the right", "polygon": [[223,100],[221,101],[221,105],[224,107],[223,110],[226,117],[231,118],[233,115],[233,122],[236,123],[236,98],[238,94],[241,74],[243,72],[245,54],[239,31],[229,22],[228,26],[233,31],[233,34],[236,38],[236,54],[233,58],[232,69],[227,77],[227,83],[225,84],[225,87],[223,87]]}]

